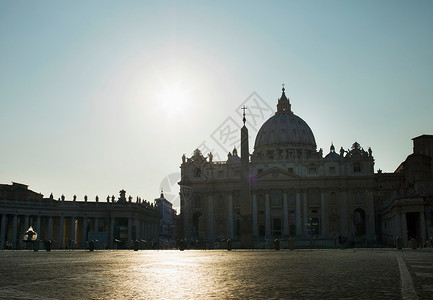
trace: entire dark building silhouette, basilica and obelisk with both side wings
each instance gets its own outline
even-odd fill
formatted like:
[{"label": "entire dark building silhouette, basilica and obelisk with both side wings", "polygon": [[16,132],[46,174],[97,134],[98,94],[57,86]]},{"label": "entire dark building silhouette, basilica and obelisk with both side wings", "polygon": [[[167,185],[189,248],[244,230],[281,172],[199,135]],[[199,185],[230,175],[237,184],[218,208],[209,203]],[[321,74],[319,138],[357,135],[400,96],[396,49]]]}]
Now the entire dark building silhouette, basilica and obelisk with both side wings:
[{"label": "entire dark building silhouette, basilica and obelisk with both side wings", "polygon": [[[260,128],[252,153],[244,107],[241,156],[227,160],[196,149],[182,156],[181,215],[177,218],[161,192],[155,205],[137,197],[67,200],[31,191],[27,185],[0,184],[0,249],[23,249],[30,226],[53,249],[155,248],[175,238],[197,245],[268,247],[275,239],[288,246],[353,246],[377,243],[407,247],[433,245],[433,136],[413,138],[413,153],[393,173],[374,173],[371,148],[354,142],[325,154],[313,131],[291,109],[283,88],[275,115]],[[181,227],[179,227],[181,224]],[[178,235],[178,236],[176,236]]]}]

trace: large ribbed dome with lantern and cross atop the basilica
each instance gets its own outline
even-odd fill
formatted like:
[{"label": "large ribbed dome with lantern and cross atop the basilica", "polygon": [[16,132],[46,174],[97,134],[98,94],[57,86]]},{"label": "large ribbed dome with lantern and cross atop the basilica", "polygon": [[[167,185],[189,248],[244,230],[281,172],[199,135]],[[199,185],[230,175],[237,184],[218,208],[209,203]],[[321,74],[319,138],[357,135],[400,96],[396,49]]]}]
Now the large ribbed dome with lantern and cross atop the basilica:
[{"label": "large ribbed dome with lantern and cross atop the basilica", "polygon": [[287,148],[316,151],[316,140],[308,124],[291,111],[284,88],[278,99],[277,112],[257,133],[254,151],[269,148]]}]

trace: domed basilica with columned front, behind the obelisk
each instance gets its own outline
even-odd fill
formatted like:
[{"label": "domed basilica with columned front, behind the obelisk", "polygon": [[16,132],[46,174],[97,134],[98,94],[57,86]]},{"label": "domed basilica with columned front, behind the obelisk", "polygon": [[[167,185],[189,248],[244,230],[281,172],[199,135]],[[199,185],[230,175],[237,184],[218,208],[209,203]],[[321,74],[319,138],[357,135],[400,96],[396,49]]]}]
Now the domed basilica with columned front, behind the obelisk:
[{"label": "domed basilica with columned front, behind the obelisk", "polygon": [[213,161],[211,153],[205,157],[199,150],[190,158],[183,155],[179,184],[185,238],[229,238],[242,246],[242,232],[248,232],[243,224],[248,224],[253,247],[289,237],[376,239],[370,148],[355,142],[336,152],[331,145],[324,155],[308,124],[291,110],[284,88],[252,153],[244,147],[248,134],[241,136],[242,157],[237,149],[226,161]]}]

